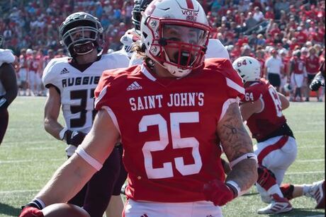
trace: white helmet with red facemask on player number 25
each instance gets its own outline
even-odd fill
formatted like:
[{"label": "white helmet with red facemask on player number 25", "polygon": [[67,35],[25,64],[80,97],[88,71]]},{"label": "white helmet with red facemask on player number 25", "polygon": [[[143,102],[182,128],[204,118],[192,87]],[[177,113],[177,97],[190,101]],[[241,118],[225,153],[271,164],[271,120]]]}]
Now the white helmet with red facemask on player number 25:
[{"label": "white helmet with red facemask on player number 25", "polygon": [[[196,42],[194,40],[183,42],[181,37],[164,37],[165,30],[181,27],[193,31],[196,35]],[[163,66],[173,76],[186,76],[203,64],[210,27],[206,13],[198,1],[152,1],[142,13],[140,31],[142,47],[145,49],[147,57]],[[179,50],[174,56],[175,61],[170,60],[167,49]]]}]

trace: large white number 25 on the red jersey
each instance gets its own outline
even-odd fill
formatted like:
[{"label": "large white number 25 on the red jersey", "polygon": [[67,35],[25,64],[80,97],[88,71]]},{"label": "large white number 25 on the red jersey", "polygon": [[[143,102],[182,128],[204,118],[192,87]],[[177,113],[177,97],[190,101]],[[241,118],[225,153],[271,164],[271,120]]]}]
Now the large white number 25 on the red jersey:
[{"label": "large white number 25 on the red jersey", "polygon": [[[195,137],[181,138],[181,123],[198,123],[198,112],[176,112],[170,114],[170,129],[172,136],[172,147],[192,148],[192,156],[194,163],[185,165],[184,158],[174,158],[176,170],[181,175],[197,174],[203,165],[201,155],[199,153],[199,142]],[[169,133],[167,129],[167,121],[162,115],[145,115],[139,123],[139,131],[147,131],[147,127],[157,125],[159,128],[159,141],[147,141],[142,147],[142,153],[145,159],[145,170],[147,177],[150,179],[162,179],[173,177],[172,162],[163,163],[162,168],[153,168],[151,151],[163,151],[169,144]]]}]

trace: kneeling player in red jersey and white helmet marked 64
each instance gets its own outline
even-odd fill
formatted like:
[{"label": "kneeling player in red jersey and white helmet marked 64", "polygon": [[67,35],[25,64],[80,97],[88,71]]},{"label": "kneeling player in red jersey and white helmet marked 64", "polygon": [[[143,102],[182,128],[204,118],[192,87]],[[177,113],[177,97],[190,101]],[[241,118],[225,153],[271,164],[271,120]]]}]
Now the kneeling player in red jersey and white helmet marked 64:
[{"label": "kneeling player in red jersey and white helmet marked 64", "polygon": [[260,64],[252,57],[240,57],[233,62],[245,85],[245,98],[240,110],[243,121],[257,139],[254,146],[259,163],[257,189],[262,200],[269,203],[258,213],[271,214],[291,211],[288,199],[279,185],[288,167],[296,159],[297,145],[282,110],[289,106],[284,95],[261,78]]}]

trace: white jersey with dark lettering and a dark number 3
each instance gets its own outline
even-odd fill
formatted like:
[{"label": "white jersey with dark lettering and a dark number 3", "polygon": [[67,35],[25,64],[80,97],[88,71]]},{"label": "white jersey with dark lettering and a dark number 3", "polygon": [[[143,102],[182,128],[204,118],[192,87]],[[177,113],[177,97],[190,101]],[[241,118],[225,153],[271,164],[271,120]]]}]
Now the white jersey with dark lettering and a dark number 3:
[{"label": "white jersey with dark lettering and a dark number 3", "polygon": [[94,90],[106,69],[128,66],[128,57],[120,54],[104,54],[85,71],[69,64],[69,57],[52,59],[44,69],[43,84],[55,86],[60,92],[62,113],[66,127],[88,133],[93,124]]}]

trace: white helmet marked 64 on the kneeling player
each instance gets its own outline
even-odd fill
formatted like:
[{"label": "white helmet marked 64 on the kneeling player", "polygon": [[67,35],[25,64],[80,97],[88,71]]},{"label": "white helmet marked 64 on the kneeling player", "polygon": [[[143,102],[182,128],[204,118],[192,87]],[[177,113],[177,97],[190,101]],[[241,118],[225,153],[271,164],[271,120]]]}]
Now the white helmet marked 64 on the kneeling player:
[{"label": "white helmet marked 64 on the kneeling player", "polygon": [[260,75],[260,63],[253,57],[239,57],[233,61],[233,68],[240,74],[243,83],[247,81],[259,81]]}]

